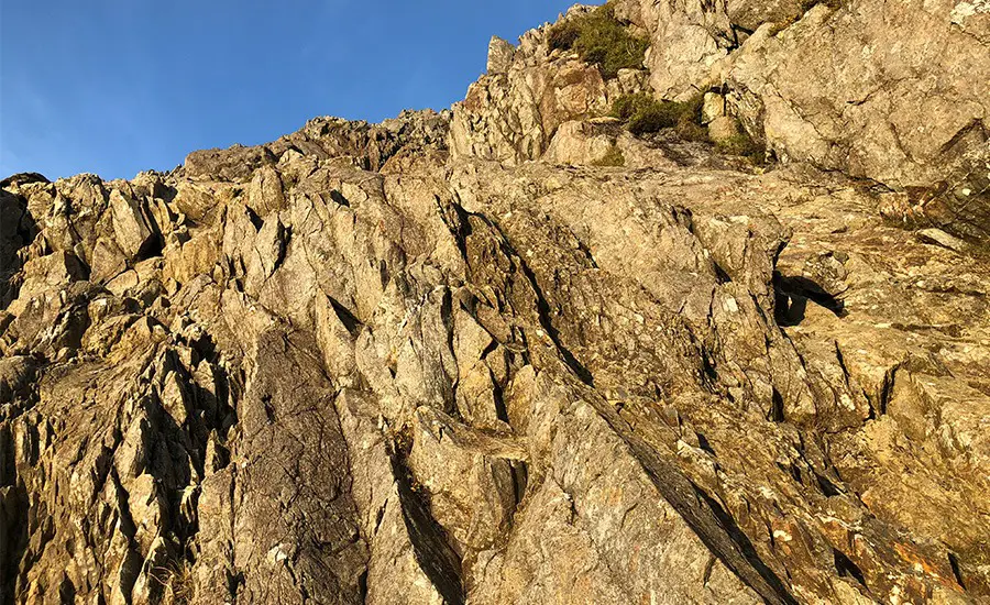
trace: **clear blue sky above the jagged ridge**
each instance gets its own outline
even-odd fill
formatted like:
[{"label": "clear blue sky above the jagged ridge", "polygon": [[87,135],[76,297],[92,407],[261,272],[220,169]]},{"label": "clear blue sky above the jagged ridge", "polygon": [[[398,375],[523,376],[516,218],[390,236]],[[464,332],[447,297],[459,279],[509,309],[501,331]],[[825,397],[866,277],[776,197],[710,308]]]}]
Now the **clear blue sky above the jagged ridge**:
[{"label": "clear blue sky above the jagged ridge", "polygon": [[0,0],[0,178],[131,178],[316,116],[449,107],[574,0]]}]

